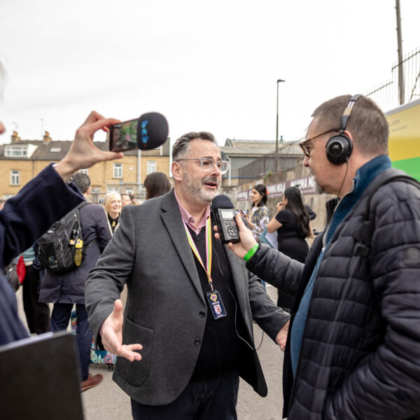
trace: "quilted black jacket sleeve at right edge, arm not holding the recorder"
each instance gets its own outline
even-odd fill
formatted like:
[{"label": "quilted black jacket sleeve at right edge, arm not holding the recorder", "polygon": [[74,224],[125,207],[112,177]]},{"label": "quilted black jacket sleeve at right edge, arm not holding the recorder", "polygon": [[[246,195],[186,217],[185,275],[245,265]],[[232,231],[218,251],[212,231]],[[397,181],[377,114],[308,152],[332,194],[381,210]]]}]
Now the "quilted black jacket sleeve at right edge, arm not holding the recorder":
[{"label": "quilted black jacket sleeve at right edge, arm not holding the recorder", "polygon": [[384,340],[330,396],[325,419],[420,413],[420,190],[391,183],[378,190],[370,209],[370,274]]}]

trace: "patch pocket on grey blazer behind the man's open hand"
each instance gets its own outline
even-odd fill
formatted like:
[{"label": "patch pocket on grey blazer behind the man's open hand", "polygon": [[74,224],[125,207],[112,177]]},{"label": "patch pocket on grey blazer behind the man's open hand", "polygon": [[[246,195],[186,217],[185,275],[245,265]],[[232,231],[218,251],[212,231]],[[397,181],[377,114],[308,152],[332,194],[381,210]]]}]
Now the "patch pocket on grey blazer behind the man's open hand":
[{"label": "patch pocket on grey blazer behind the man's open hand", "polygon": [[141,386],[149,376],[154,331],[125,318],[123,328],[123,344],[139,343],[141,360],[130,362],[126,358],[118,358],[118,372],[132,386]]}]

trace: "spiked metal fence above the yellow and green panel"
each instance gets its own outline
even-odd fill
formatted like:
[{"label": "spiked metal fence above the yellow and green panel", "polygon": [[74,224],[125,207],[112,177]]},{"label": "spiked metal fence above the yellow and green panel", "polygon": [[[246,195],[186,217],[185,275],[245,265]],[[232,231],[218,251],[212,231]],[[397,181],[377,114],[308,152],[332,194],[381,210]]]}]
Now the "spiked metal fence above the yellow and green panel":
[{"label": "spiked metal fence above the yellow and green panel", "polygon": [[420,97],[420,48],[409,52],[400,63],[391,69],[391,78],[365,94],[386,112],[400,105],[398,92],[398,69],[402,66],[404,80],[404,103]]}]

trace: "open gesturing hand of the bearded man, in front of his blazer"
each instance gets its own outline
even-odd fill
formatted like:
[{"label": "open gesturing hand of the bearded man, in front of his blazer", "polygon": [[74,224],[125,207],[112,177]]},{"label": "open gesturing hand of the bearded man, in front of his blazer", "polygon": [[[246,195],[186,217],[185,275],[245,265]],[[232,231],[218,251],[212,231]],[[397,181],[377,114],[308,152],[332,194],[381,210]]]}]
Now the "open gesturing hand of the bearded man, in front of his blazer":
[{"label": "open gesturing hand of the bearded man, in front of his blazer", "polygon": [[102,344],[106,351],[130,360],[141,360],[136,350],[143,349],[141,344],[123,344],[123,302],[117,299],[111,315],[102,324]]}]

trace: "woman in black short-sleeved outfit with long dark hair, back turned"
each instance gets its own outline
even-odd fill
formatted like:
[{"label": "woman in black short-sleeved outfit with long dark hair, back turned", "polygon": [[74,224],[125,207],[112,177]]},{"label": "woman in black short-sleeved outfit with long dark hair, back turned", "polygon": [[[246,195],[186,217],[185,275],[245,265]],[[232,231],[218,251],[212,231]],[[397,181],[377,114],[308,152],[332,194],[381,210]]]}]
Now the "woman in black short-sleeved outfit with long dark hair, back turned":
[{"label": "woman in black short-sleeved outfit with long dark hair, back turned", "polygon": [[[299,262],[306,260],[309,245],[305,240],[312,235],[309,215],[304,208],[300,190],[297,187],[288,187],[283,192],[283,202],[276,205],[277,213],[269,221],[267,231],[277,231],[279,251]],[[290,311],[293,307],[293,297],[277,289],[277,306]]]}]

